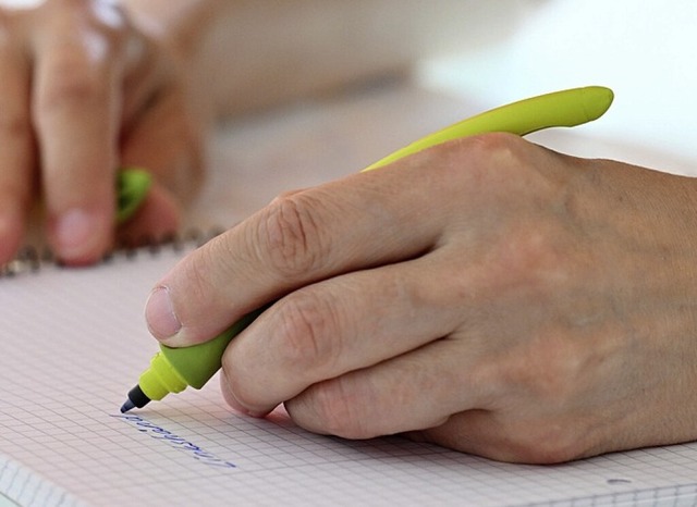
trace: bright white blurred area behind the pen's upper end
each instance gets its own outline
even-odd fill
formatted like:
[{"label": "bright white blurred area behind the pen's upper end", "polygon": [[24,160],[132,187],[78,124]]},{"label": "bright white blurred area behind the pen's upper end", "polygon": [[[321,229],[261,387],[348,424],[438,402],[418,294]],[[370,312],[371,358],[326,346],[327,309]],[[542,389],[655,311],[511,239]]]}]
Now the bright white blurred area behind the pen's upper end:
[{"label": "bright white blurred area behind the pen's upper end", "polygon": [[427,86],[487,107],[561,88],[609,86],[615,91],[610,112],[583,128],[597,143],[574,149],[637,163],[664,161],[660,169],[697,174],[692,170],[697,2],[494,0],[487,5],[481,23],[490,36],[424,62],[419,78]]}]

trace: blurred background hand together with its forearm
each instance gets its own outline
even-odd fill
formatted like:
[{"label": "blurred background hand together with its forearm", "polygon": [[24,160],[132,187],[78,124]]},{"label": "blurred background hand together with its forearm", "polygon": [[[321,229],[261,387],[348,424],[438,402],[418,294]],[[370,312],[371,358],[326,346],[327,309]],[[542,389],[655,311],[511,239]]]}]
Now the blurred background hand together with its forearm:
[{"label": "blurred background hand together with its forearm", "polygon": [[[200,183],[204,139],[216,118],[402,72],[416,58],[452,47],[462,32],[456,20],[469,5],[46,0],[33,9],[0,7],[0,264],[38,228],[35,214],[68,264],[99,260],[117,238],[134,243],[175,231]],[[113,181],[122,165],[147,168],[156,185],[142,212],[115,231]]]}]

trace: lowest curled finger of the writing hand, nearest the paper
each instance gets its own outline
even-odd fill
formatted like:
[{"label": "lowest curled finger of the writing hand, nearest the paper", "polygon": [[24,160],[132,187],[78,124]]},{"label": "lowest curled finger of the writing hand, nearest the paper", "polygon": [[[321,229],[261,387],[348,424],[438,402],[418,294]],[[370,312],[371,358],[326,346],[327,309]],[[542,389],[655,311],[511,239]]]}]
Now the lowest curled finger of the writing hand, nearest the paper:
[{"label": "lowest curled finger of the writing hand, nearest the paper", "polygon": [[346,438],[369,438],[444,424],[454,413],[487,409],[486,368],[444,338],[423,348],[313,385],[286,401],[301,426]]}]

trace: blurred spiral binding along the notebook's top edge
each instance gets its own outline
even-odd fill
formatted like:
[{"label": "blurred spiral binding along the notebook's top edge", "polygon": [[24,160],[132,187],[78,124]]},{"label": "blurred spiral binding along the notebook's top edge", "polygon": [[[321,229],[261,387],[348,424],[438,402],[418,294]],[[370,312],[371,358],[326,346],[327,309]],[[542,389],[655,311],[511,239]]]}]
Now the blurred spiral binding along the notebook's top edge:
[{"label": "blurred spiral binding along the notebook's top edge", "polygon": [[[182,234],[172,234],[162,238],[144,237],[137,240],[127,240],[108,252],[98,263],[108,264],[119,257],[134,259],[143,253],[157,256],[163,248],[181,251],[188,246],[200,247],[222,232],[223,230],[220,227],[213,227],[209,231],[191,228]],[[0,279],[38,273],[48,265],[63,268],[64,264],[50,248],[27,245],[17,251],[14,259],[0,265]]]}]

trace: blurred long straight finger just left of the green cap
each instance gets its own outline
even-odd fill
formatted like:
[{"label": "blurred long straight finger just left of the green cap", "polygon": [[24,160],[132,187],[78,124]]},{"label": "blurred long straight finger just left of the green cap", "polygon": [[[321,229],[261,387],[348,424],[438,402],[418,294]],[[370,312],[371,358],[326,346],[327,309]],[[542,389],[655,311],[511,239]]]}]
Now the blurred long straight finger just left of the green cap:
[{"label": "blurred long straight finger just left of the green cap", "polygon": [[112,235],[118,47],[114,38],[85,26],[84,20],[58,16],[36,37],[35,52],[33,111],[49,237],[62,260],[91,262],[110,246]]}]

